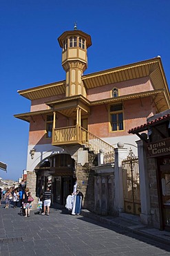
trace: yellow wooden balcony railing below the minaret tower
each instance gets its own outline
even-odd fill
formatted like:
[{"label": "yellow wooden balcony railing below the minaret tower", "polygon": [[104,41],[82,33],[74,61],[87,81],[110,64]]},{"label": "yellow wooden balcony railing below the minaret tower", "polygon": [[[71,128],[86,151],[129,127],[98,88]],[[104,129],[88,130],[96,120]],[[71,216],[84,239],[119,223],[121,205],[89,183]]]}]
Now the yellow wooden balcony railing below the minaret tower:
[{"label": "yellow wooden balcony railing below the minaret tower", "polygon": [[83,145],[88,142],[88,131],[80,125],[54,128],[52,130],[52,145],[62,146],[70,144]]}]

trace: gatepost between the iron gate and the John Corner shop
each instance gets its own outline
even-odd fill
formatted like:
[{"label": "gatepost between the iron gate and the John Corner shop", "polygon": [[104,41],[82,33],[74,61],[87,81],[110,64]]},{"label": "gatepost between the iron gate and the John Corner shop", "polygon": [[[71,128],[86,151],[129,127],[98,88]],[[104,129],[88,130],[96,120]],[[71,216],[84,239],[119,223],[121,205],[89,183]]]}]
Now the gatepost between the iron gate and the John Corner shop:
[{"label": "gatepost between the iron gate and the John Corner shop", "polygon": [[136,141],[138,145],[138,161],[139,161],[139,176],[140,176],[140,201],[141,214],[140,220],[142,223],[151,223],[151,203],[149,196],[149,178],[147,175],[147,156],[142,140]]}]

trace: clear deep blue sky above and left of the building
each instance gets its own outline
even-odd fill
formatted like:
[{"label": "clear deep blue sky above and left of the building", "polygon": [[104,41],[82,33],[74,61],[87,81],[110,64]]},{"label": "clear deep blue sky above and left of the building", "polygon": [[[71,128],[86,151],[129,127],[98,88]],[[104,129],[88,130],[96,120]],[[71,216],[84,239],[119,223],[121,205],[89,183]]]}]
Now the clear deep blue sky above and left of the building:
[{"label": "clear deep blue sky above and left of the building", "polygon": [[57,38],[65,30],[91,35],[87,73],[161,56],[170,84],[169,0],[0,0],[0,161],[17,180],[26,168],[30,111],[18,90],[65,79]]}]

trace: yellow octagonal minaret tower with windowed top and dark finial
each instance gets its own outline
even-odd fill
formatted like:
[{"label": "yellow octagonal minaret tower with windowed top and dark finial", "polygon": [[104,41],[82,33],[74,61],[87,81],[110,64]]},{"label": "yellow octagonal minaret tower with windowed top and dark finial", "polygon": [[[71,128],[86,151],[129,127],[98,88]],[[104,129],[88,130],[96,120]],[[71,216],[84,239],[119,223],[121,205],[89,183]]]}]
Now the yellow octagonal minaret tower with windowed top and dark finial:
[{"label": "yellow octagonal minaret tower with windowed top and dark finial", "polygon": [[87,48],[92,45],[90,35],[81,30],[65,31],[59,38],[62,51],[62,66],[66,72],[65,96],[83,95],[86,90],[81,80],[87,69]]}]

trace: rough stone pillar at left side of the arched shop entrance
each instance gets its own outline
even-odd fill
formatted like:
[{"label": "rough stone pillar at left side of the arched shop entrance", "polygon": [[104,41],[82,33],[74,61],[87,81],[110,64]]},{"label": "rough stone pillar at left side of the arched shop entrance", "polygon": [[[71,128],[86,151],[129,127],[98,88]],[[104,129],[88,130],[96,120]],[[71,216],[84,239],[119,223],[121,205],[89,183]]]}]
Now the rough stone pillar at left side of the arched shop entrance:
[{"label": "rough stone pillar at left side of the arched shop entrance", "polygon": [[34,201],[32,202],[32,210],[37,209],[38,198],[36,197],[36,174],[34,171],[27,171],[27,188],[32,193]]}]

